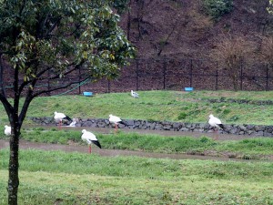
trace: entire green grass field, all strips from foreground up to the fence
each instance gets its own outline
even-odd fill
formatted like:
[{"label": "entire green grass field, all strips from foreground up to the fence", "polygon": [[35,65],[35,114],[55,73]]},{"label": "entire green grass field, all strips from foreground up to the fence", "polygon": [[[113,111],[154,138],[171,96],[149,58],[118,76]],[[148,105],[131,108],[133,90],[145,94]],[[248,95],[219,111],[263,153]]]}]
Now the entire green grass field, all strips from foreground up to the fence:
[{"label": "entire green grass field, all strips from foreground up to the fence", "polygon": [[[95,97],[39,97],[28,117],[51,117],[54,111],[74,118],[139,118],[207,122],[213,113],[224,123],[271,125],[272,106],[208,103],[207,98],[270,100],[273,92],[140,91]],[[0,132],[7,123],[0,107]],[[25,125],[32,125],[26,121]],[[80,131],[23,128],[30,141],[86,146]],[[162,137],[119,132],[96,133],[104,149],[161,153],[233,152],[242,158],[273,155],[273,138],[214,141],[211,138]],[[6,138],[4,134],[0,138]],[[7,204],[8,149],[0,149],[0,204]],[[96,154],[21,149],[19,204],[273,204],[271,160],[214,161],[102,157]]]}]

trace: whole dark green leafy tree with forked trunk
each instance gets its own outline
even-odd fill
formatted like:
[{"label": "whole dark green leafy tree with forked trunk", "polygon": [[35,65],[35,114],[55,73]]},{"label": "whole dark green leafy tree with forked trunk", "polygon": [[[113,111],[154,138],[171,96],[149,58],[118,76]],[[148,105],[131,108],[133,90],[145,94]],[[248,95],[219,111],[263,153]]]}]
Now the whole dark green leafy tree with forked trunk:
[{"label": "whole dark green leafy tree with forked trunk", "polygon": [[[31,101],[88,78],[116,77],[135,56],[111,5],[110,0],[0,0],[0,100],[12,127],[8,204],[17,204],[20,129]],[[6,71],[13,79],[10,98]],[[52,86],[37,87],[43,82]]]}]

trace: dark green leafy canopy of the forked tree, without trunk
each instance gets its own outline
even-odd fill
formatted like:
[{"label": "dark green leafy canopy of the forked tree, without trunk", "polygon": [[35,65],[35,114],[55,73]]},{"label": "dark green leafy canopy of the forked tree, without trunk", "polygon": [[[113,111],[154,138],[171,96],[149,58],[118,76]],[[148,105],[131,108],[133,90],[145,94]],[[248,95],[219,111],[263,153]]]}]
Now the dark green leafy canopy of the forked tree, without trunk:
[{"label": "dark green leafy canopy of the forked tree, without trunk", "polygon": [[[118,2],[118,1],[117,1]],[[136,50],[117,25],[110,0],[1,0],[0,53],[25,83],[64,77],[71,67],[92,77],[116,77]],[[71,71],[70,71],[71,72]],[[54,78],[55,76],[52,76]]]}]

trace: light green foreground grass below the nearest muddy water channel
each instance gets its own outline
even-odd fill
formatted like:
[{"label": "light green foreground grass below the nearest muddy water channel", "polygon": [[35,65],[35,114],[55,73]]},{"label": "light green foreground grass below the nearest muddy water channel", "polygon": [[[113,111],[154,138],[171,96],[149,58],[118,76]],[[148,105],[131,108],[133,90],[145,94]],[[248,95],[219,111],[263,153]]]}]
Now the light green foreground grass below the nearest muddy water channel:
[{"label": "light green foreground grass below the nearest muddy water channel", "polygon": [[[7,169],[8,150],[0,150]],[[20,152],[19,204],[272,204],[269,162]],[[0,203],[7,172],[0,170]]]}]

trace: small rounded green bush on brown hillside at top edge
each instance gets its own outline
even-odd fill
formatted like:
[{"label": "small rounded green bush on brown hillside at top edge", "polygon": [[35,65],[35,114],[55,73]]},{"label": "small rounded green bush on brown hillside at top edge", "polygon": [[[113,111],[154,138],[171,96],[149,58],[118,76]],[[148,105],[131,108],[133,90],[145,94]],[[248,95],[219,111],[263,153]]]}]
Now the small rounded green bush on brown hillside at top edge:
[{"label": "small rounded green bush on brown hillside at top edge", "polygon": [[232,0],[203,0],[203,6],[207,15],[217,20],[232,10],[233,2]]}]

